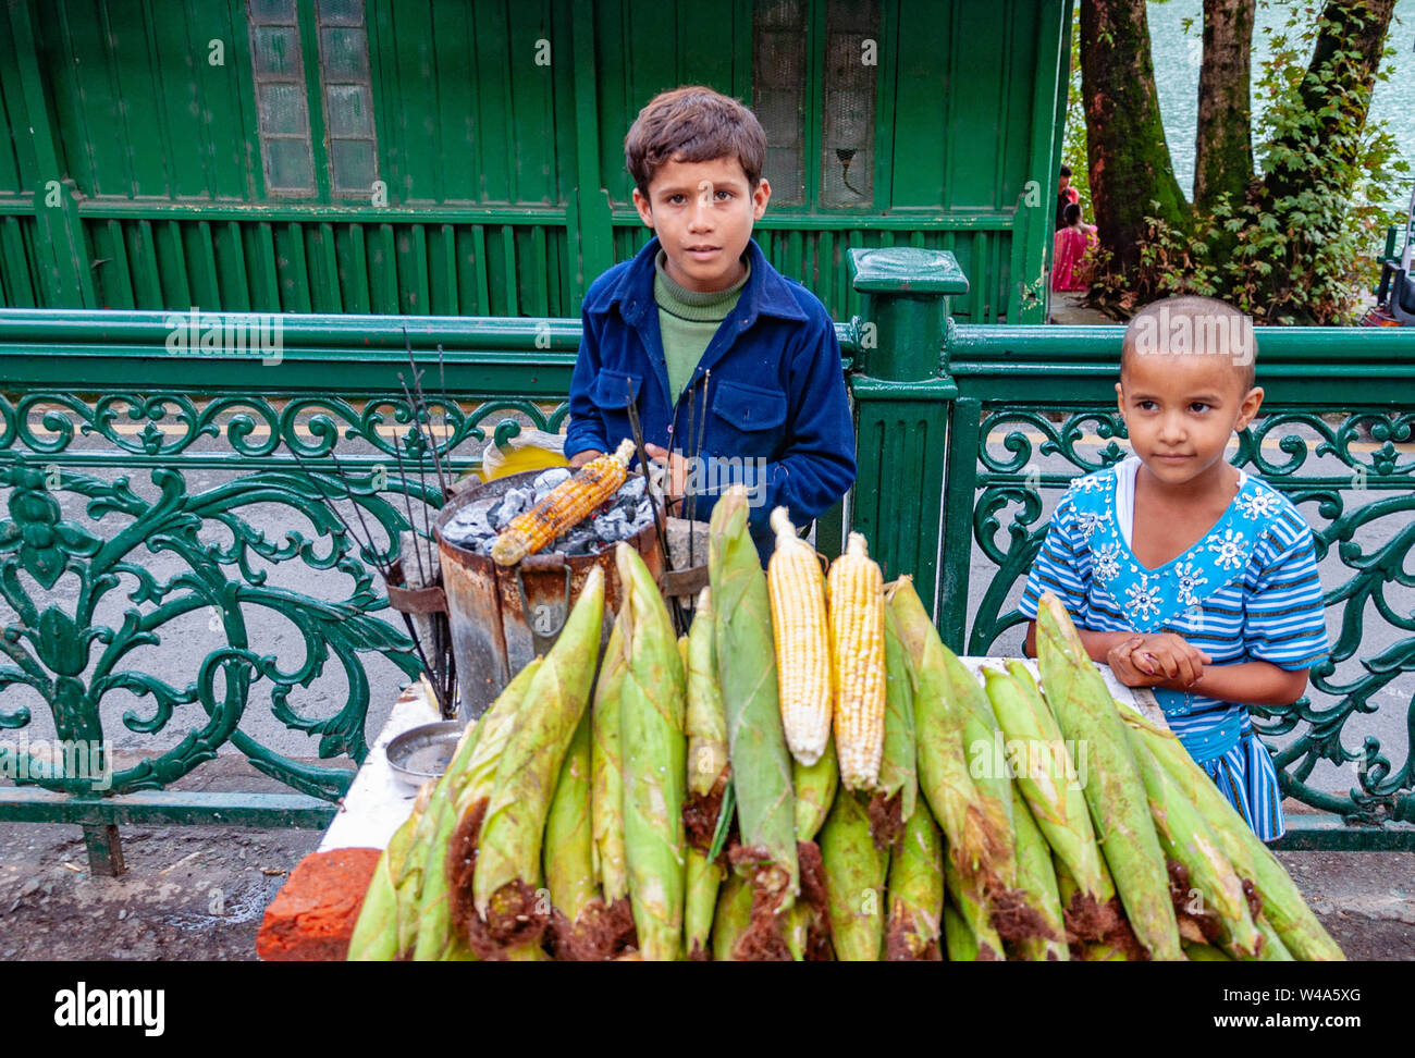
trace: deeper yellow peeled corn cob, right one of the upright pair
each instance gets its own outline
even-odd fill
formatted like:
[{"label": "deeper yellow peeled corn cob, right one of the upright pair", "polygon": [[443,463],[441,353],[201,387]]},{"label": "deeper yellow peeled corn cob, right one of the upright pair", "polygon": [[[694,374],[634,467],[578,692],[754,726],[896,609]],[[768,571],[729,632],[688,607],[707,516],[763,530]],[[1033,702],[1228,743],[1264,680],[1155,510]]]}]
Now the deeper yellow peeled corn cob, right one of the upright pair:
[{"label": "deeper yellow peeled corn cob, right one of the upright pair", "polygon": [[884,757],[884,577],[860,533],[850,533],[828,584],[841,782],[873,789]]}]

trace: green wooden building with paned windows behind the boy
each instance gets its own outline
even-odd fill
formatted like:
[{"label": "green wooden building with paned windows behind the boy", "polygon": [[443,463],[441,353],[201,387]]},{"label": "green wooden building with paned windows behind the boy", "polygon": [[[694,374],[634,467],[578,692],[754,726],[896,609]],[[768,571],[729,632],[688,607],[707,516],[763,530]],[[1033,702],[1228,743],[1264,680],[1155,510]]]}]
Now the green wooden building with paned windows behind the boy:
[{"label": "green wooden building with paned windows behind the boy", "polygon": [[747,102],[756,238],[838,320],[852,246],[1041,322],[1070,0],[16,0],[0,304],[576,315],[648,239],[624,134]]}]

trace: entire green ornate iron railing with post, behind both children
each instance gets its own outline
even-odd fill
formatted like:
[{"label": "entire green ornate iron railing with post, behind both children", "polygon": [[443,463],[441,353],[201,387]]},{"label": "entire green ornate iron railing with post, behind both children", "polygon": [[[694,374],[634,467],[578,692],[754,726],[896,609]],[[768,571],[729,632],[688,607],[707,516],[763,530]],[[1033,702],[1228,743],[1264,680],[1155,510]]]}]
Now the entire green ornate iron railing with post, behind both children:
[{"label": "entire green ornate iron railing with post, behind both children", "polygon": [[[947,303],[968,287],[949,255],[877,250],[852,266],[866,311],[838,325],[859,430],[850,522],[890,576],[916,574],[952,646],[1015,649],[1013,600],[1050,505],[1071,477],[1124,454],[1121,331],[955,327]],[[429,372],[422,430],[398,380],[405,324]],[[416,662],[372,556],[323,495],[347,484],[342,502],[396,557],[399,533],[423,528],[419,505],[440,499],[423,438],[461,471],[490,433],[556,430],[566,414],[574,320],[282,325],[279,356],[262,361],[171,351],[160,313],[0,313],[0,744],[47,709],[58,738],[102,741],[120,726],[157,745],[102,796],[74,777],[0,788],[0,819],[325,822],[348,761],[366,752],[366,666],[412,675]],[[1317,809],[1290,815],[1289,847],[1415,847],[1415,608],[1402,595],[1415,588],[1412,354],[1415,335],[1391,331],[1259,337],[1265,414],[1234,461],[1312,522],[1339,629],[1310,699],[1259,717],[1283,789]],[[839,528],[822,521],[822,549]],[[294,587],[282,581],[291,570],[306,574]],[[262,642],[262,612],[294,635]],[[192,621],[214,648],[183,678],[154,672],[157,649],[201,653],[184,638]],[[321,679],[337,687],[317,707]],[[242,721],[260,703],[316,740],[323,762],[252,734]],[[1371,717],[1395,737],[1370,734]],[[1346,736],[1363,726],[1353,747]],[[294,792],[158,792],[222,748]],[[8,774],[17,764],[0,755]],[[1346,767],[1340,781],[1330,765]]]}]

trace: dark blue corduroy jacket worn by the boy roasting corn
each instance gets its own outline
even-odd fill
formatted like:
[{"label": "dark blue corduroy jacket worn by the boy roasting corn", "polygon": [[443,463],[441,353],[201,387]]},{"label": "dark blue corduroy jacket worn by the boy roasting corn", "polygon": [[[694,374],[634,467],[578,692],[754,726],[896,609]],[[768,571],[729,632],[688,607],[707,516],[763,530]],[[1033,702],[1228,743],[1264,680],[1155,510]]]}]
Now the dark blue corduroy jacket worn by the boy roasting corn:
[{"label": "dark blue corduroy jacket worn by the boy roasting corn", "polygon": [[[855,430],[841,371],[841,345],[825,306],[767,263],[749,240],[751,276],[708,344],[682,393],[668,366],[654,301],[654,238],[608,269],[584,296],[580,355],[570,379],[565,454],[613,451],[630,436],[627,403],[638,407],[644,441],[702,455],[693,489],[706,519],[730,482],[751,495],[751,535],[766,562],[767,519],[784,505],[807,525],[855,482]],[[692,396],[689,396],[689,393]],[[708,409],[689,437],[689,409]]]}]

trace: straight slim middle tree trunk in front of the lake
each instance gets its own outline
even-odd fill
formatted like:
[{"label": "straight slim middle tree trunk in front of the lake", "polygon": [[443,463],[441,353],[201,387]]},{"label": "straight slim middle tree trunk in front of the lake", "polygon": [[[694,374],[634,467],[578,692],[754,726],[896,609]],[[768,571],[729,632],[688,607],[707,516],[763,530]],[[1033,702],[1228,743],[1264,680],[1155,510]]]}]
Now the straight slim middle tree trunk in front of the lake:
[{"label": "straight slim middle tree trunk in front of the lake", "polygon": [[1257,0],[1204,0],[1204,62],[1199,71],[1194,208],[1220,195],[1238,205],[1252,180],[1249,58]]}]

